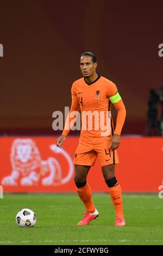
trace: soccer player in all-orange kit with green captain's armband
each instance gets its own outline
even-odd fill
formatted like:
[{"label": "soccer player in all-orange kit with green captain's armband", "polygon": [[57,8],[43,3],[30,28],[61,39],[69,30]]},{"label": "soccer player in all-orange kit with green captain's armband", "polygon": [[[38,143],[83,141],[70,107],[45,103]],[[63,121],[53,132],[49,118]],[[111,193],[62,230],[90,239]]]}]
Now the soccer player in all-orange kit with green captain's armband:
[{"label": "soccer player in all-orange kit with green captain's armband", "polygon": [[[85,52],[80,58],[80,69],[83,78],[72,84],[72,105],[68,114],[65,129],[57,139],[57,146],[62,148],[68,132],[72,128],[70,123],[73,119],[71,113],[79,111],[82,114],[82,129],[80,132],[79,145],[74,154],[75,176],[74,181],[80,199],[83,201],[86,211],[78,225],[88,225],[90,221],[98,217],[98,211],[92,201],[91,188],[86,181],[87,174],[94,166],[97,156],[101,162],[102,173],[109,187],[111,201],[114,205],[116,226],[124,226],[125,220],[122,208],[122,191],[115,176],[115,164],[118,163],[116,149],[120,145],[121,130],[126,118],[126,108],[115,84],[96,73],[97,60],[95,54]],[[111,103],[117,110],[116,127],[110,115]],[[88,124],[84,123],[84,112],[99,113],[98,121],[86,117]],[[100,115],[100,113],[104,115]],[[109,120],[109,125],[107,121]],[[90,128],[92,121],[92,129]],[[95,125],[101,124],[99,129]],[[105,131],[105,133],[104,133]],[[97,181],[98,182],[98,181]]]}]

